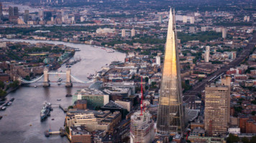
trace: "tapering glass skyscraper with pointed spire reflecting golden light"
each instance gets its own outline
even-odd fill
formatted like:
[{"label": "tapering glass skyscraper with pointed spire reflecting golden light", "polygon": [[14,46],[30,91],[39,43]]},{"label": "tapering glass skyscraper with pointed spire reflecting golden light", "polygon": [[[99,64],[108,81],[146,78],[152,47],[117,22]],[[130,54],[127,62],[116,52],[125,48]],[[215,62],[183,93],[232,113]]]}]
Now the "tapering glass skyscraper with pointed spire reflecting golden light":
[{"label": "tapering glass skyscraper with pointed spire reflecting golden light", "polygon": [[184,129],[180,64],[176,38],[175,13],[172,14],[170,10],[157,112],[157,132],[160,134],[176,134],[183,132]]}]

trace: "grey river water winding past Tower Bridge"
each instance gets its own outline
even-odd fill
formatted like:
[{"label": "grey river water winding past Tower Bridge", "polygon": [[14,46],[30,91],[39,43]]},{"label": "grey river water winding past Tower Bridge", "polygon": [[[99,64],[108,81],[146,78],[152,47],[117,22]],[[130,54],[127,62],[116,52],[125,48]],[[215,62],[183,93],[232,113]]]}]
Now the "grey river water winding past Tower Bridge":
[{"label": "grey river water winding past Tower Bridge", "polygon": [[[46,42],[49,44],[64,44],[74,48],[79,48],[74,58],[81,58],[81,61],[74,64],[71,74],[82,81],[88,81],[87,74],[94,74],[102,66],[110,64],[111,61],[124,61],[125,54],[120,52],[107,53],[106,50],[95,48],[86,44],[72,44],[61,41],[34,41],[18,39],[2,39],[0,41],[27,41],[30,43]],[[65,64],[58,71],[65,72]],[[65,79],[64,76],[50,75],[50,81],[57,81],[58,78]],[[34,84],[32,84],[34,85]],[[37,88],[19,87],[17,91],[11,92],[7,97],[14,97],[15,100],[5,111],[0,111],[3,118],[0,120],[0,142],[68,142],[67,137],[52,135],[45,137],[45,130],[52,129],[58,131],[63,127],[65,113],[59,109],[58,104],[68,107],[72,103],[72,97],[65,97],[65,94],[74,94],[76,90],[83,88],[84,84],[75,84],[72,88],[65,88],[65,84],[58,86],[52,84],[51,87],[44,88],[37,83]],[[57,101],[61,99],[61,101]],[[51,116],[44,122],[40,122],[40,110],[44,101],[52,103],[53,111]],[[54,119],[54,120],[52,120]]]}]

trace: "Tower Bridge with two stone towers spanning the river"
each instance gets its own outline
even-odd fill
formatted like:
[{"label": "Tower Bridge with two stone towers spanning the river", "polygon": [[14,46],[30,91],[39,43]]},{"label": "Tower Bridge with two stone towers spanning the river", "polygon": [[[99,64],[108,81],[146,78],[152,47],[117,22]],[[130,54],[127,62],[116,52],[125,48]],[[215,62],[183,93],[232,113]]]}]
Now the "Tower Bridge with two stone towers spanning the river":
[{"label": "Tower Bridge with two stone towers spanning the river", "polygon": [[71,74],[71,69],[70,68],[68,68],[66,70],[66,72],[49,72],[49,69],[47,69],[47,67],[45,67],[42,76],[38,77],[37,79],[33,79],[33,80],[28,81],[28,80],[22,79],[22,77],[20,77],[19,81],[20,81],[21,84],[32,84],[32,83],[35,83],[35,82],[42,82],[43,87],[50,87],[50,79],[49,79],[50,74],[54,74],[54,75],[65,74],[66,75],[65,87],[72,87],[73,83],[80,83],[80,84],[93,83],[93,81],[83,82],[81,79],[78,79],[78,78],[74,77]]}]

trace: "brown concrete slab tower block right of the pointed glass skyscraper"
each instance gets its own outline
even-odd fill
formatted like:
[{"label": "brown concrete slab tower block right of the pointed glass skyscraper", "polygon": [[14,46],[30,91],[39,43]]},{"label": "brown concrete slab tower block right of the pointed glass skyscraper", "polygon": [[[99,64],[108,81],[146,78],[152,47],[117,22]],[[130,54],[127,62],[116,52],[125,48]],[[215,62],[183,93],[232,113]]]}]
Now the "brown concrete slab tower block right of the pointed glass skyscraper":
[{"label": "brown concrete slab tower block right of the pointed glass skyscraper", "polygon": [[[223,80],[223,81],[222,81]],[[204,129],[208,136],[226,135],[230,114],[230,77],[206,87]]]}]

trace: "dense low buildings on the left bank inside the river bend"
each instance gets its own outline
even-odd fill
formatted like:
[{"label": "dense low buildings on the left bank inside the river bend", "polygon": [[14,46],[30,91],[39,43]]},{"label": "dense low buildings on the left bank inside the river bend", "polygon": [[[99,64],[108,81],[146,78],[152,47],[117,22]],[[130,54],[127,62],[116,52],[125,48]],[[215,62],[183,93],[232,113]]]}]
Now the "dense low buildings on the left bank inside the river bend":
[{"label": "dense low buildings on the left bank inside the river bend", "polygon": [[73,56],[75,49],[55,44],[29,44],[27,42],[2,41],[0,69],[1,81],[10,82],[34,78],[42,74],[45,65],[58,69],[60,64]]}]

